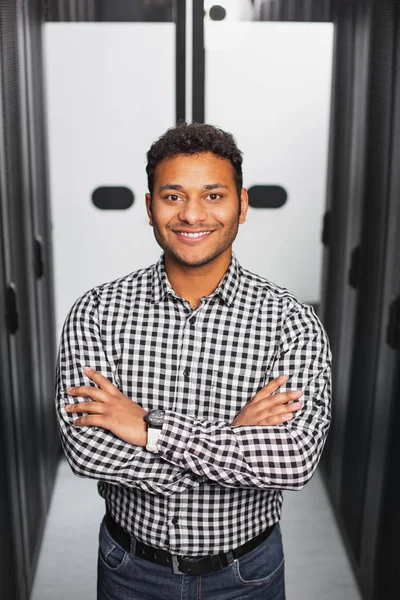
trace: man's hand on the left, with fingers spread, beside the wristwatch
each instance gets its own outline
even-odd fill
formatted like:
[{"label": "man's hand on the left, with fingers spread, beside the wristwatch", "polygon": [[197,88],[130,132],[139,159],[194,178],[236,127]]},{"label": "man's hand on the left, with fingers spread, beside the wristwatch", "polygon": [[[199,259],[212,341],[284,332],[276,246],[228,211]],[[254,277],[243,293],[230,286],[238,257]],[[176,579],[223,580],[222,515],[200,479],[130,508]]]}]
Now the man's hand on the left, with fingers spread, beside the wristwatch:
[{"label": "man's hand on the left, with fingers spread, beside the wristwatch", "polygon": [[[146,423],[143,417],[147,411],[136,402],[124,396],[106,377],[90,367],[85,367],[85,374],[97,385],[67,388],[70,396],[85,396],[94,402],[79,402],[68,404],[68,413],[90,413],[73,422],[74,425],[93,425],[112,431],[124,442],[134,446],[145,446],[147,443]],[[99,389],[100,388],[100,389]]]}]

